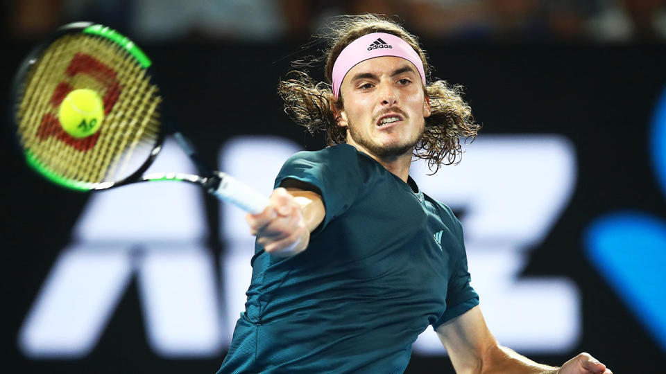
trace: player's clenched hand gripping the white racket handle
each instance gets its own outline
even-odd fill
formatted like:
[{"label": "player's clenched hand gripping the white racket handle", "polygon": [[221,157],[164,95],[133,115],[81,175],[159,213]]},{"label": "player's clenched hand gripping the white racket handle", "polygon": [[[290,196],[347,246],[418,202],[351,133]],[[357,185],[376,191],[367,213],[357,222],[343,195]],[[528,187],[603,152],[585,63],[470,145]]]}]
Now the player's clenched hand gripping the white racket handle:
[{"label": "player's clenched hand gripping the white racket handle", "polygon": [[310,231],[305,226],[300,205],[284,188],[275,188],[262,213],[248,214],[245,220],[252,235],[266,252],[292,256],[307,247]]}]

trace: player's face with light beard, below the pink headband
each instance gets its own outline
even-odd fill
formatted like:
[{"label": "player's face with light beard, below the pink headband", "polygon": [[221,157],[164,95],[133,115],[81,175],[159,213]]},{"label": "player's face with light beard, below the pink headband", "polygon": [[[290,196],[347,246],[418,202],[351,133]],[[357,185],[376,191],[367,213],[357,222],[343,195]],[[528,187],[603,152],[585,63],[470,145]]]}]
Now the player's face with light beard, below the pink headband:
[{"label": "player's face with light beard, below the pink headband", "polygon": [[411,154],[430,116],[421,78],[411,62],[375,57],[354,66],[340,88],[338,124],[347,142],[379,158]]}]

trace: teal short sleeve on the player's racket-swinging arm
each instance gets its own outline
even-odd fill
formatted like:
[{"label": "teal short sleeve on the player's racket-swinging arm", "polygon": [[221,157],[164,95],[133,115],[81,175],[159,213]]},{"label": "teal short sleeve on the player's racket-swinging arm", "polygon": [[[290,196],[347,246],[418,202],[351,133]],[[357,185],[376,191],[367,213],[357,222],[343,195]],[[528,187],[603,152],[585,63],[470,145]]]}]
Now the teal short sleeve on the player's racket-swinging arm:
[{"label": "teal short sleeve on the player's racket-swinging arm", "polygon": [[[342,215],[368,190],[367,162],[358,156],[355,148],[340,144],[317,152],[298,152],[282,166],[275,179],[278,188],[285,179],[296,179],[316,188],[321,194],[326,215],[318,230],[335,217]],[[365,172],[364,172],[365,169]]]}]

